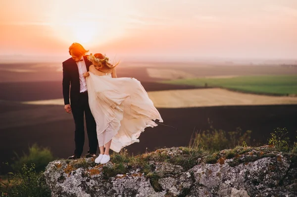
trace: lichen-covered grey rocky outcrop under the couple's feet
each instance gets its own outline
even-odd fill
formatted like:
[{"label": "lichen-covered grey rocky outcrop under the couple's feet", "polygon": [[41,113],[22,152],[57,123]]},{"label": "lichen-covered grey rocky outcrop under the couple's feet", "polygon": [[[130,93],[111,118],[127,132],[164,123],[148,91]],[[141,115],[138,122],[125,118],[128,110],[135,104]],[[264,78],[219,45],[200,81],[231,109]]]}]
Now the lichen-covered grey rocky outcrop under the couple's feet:
[{"label": "lichen-covered grey rocky outcrop under the couple's feet", "polygon": [[112,162],[55,160],[45,171],[52,197],[295,197],[297,156],[270,146],[207,155],[160,149]]}]

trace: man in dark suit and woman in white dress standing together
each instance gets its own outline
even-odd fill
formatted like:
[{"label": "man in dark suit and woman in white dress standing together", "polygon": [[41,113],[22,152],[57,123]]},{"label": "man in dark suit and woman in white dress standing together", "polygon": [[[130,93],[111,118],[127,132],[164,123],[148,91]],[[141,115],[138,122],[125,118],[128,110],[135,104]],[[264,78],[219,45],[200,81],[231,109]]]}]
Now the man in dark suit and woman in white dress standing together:
[{"label": "man in dark suit and woman in white dress standing together", "polygon": [[[81,44],[69,47],[71,58],[63,62],[65,111],[75,122],[75,150],[68,159],[80,158],[85,142],[84,116],[89,138],[87,158],[96,163],[109,161],[109,149],[120,150],[134,142],[146,127],[162,118],[140,81],[117,78],[116,66],[101,53],[87,55]],[[70,99],[70,100],[69,100]]]}]

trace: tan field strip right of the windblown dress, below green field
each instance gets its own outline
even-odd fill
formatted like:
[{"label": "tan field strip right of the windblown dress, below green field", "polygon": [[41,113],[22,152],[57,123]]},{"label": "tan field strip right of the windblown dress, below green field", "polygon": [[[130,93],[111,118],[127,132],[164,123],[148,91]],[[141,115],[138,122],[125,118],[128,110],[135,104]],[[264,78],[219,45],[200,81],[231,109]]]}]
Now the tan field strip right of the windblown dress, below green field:
[{"label": "tan field strip right of the windblown dress, below green field", "polygon": [[297,97],[247,94],[220,88],[153,91],[148,92],[148,96],[157,108],[297,104]]}]

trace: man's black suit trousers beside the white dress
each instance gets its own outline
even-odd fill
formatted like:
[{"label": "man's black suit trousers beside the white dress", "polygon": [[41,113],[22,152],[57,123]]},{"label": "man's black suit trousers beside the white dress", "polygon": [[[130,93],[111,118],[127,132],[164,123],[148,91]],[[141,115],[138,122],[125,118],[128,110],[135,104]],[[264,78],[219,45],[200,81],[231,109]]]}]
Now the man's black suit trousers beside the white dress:
[{"label": "man's black suit trousers beside the white dress", "polygon": [[86,118],[87,133],[89,138],[89,153],[96,154],[98,148],[96,121],[89,107],[88,93],[80,93],[78,102],[75,104],[71,103],[71,109],[75,122],[74,154],[80,157],[83,153],[85,143],[84,115]]}]

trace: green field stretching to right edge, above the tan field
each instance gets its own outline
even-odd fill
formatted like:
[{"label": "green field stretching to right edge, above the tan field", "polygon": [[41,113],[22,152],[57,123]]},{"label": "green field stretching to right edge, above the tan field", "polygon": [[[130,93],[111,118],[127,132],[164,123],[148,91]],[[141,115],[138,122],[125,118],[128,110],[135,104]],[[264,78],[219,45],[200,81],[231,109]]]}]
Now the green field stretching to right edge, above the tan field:
[{"label": "green field stretching to right edge, above the tan field", "polygon": [[170,84],[223,87],[243,92],[262,94],[297,94],[297,76],[243,76],[235,78],[197,78],[162,81]]}]

